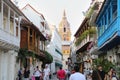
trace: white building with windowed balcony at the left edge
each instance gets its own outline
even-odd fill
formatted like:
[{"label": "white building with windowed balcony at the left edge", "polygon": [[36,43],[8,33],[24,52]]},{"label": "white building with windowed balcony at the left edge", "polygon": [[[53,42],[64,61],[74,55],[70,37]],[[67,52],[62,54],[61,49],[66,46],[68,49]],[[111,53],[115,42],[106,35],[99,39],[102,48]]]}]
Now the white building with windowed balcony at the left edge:
[{"label": "white building with windowed balcony at the left edge", "polygon": [[10,0],[0,0],[0,80],[15,80],[22,16]]}]

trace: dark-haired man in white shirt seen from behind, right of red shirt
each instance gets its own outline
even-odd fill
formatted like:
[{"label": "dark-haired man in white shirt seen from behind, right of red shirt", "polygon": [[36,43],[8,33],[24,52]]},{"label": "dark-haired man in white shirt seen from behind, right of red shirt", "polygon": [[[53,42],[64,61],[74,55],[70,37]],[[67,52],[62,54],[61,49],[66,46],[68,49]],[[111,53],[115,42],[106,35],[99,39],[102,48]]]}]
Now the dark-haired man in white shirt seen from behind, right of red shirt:
[{"label": "dark-haired man in white shirt seen from behind, right of red shirt", "polygon": [[79,67],[74,67],[75,73],[70,75],[69,80],[86,80],[85,76],[79,72]]}]

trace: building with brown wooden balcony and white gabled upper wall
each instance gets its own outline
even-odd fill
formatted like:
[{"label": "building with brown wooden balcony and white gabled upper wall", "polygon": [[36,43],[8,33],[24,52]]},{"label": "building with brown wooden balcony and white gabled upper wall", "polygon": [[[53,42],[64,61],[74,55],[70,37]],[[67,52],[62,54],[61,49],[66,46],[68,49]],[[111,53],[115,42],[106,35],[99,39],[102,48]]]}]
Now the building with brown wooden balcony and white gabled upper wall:
[{"label": "building with brown wooden balcony and white gabled upper wall", "polygon": [[[36,59],[35,64],[30,67],[39,66],[42,70],[42,67],[44,67],[46,63],[51,63],[49,58],[52,59],[51,56],[49,57],[45,55],[46,53],[48,54],[45,49],[46,44],[48,44],[50,41],[49,26],[43,14],[39,13],[31,5],[27,4],[25,7],[23,7],[22,12],[29,19],[30,23],[26,22],[27,24],[25,24],[24,20],[23,25],[21,24],[21,48],[27,48],[28,51],[32,51],[39,56],[39,60]],[[31,64],[31,62],[29,63]]]}]

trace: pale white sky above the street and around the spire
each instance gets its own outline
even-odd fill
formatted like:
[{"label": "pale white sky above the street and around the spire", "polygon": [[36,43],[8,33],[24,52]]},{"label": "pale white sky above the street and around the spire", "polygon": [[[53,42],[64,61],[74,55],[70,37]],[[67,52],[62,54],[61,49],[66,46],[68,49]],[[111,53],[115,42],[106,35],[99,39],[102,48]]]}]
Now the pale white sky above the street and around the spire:
[{"label": "pale white sky above the street and around the spire", "polygon": [[81,25],[84,15],[92,0],[17,0],[19,8],[30,4],[33,8],[43,14],[47,22],[58,27],[62,20],[63,11],[70,23],[72,40],[74,34]]}]

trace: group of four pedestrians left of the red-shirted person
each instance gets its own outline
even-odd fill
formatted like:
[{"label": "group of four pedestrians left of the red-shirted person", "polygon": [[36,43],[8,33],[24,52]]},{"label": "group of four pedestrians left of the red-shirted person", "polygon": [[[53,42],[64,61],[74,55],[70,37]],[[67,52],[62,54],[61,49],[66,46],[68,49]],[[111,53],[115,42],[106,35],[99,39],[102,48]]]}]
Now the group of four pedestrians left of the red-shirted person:
[{"label": "group of four pedestrians left of the red-shirted person", "polygon": [[48,64],[46,64],[43,72],[36,66],[32,77],[30,77],[30,70],[28,70],[28,68],[25,68],[24,70],[20,69],[18,71],[18,80],[49,80],[49,75],[50,69],[48,68]]}]

